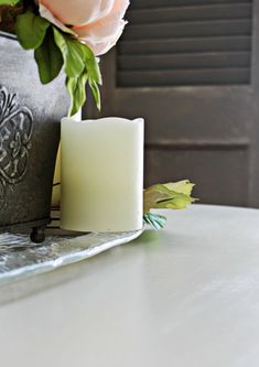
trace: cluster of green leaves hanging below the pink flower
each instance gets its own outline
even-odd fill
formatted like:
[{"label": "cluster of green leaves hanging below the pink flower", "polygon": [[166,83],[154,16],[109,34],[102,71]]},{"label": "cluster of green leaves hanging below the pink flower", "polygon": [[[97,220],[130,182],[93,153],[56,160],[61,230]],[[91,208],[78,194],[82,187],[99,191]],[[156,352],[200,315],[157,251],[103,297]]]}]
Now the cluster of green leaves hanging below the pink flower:
[{"label": "cluster of green leaves hanging below the pink flower", "polygon": [[17,18],[15,33],[24,50],[34,50],[42,84],[52,82],[64,67],[71,96],[69,116],[86,100],[86,83],[100,109],[101,76],[91,50],[71,33],[64,33],[31,10]]}]

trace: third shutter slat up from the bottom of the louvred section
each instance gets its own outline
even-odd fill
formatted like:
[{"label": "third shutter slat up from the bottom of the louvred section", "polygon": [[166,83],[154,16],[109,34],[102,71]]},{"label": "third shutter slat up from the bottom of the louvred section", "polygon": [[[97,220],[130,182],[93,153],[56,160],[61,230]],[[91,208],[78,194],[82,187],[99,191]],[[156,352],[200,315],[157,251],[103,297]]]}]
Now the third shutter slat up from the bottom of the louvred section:
[{"label": "third shutter slat up from the bottom of the louvred section", "polygon": [[250,51],[251,39],[246,35],[197,37],[197,39],[169,39],[121,41],[118,52],[121,55],[133,54],[165,54],[182,52],[208,52],[208,51]]}]

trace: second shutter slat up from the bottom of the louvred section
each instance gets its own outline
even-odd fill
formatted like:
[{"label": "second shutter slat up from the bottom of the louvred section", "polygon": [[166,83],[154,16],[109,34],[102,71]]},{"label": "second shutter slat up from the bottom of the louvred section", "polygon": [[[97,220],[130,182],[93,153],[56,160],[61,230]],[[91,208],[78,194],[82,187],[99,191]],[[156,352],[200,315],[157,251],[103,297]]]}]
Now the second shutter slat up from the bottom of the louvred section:
[{"label": "second shutter slat up from the bottom of the louvred section", "polygon": [[119,56],[119,71],[249,67],[249,52]]}]

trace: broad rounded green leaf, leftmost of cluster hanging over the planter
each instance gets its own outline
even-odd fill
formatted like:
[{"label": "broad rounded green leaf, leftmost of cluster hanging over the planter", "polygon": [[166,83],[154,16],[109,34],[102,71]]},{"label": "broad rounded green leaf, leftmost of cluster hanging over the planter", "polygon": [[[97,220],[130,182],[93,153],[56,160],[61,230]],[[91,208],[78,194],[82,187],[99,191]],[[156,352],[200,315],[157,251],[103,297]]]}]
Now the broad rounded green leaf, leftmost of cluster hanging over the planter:
[{"label": "broad rounded green leaf, leftmost of cluster hanging over the planter", "polygon": [[25,50],[37,48],[42,44],[48,26],[47,20],[31,11],[18,15],[15,32],[22,47]]}]

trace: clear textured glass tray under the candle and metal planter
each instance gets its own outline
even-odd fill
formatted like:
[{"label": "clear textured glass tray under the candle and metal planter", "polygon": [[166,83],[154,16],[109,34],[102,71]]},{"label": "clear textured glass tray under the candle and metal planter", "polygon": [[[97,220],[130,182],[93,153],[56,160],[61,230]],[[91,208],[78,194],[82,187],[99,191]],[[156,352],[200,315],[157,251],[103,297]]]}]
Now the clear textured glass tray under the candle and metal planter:
[{"label": "clear textured glass tray under the candle and metal planter", "polygon": [[0,234],[0,285],[88,259],[142,234],[138,230],[65,236],[56,227],[47,231],[42,245],[31,242],[28,235]]}]

